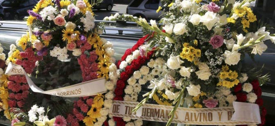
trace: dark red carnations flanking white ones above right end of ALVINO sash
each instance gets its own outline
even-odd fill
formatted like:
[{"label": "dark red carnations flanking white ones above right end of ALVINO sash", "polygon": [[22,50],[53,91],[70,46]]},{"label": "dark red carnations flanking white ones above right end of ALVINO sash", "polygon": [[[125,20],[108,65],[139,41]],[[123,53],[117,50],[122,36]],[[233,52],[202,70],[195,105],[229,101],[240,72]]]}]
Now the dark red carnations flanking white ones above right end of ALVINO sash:
[{"label": "dark red carnations flanking white ones above right end of ALVINO sash", "polygon": [[[263,100],[261,98],[262,89],[260,88],[260,83],[258,80],[254,80],[251,82],[251,85],[253,86],[253,92],[258,96],[255,103],[258,104],[260,107],[262,107]],[[234,87],[234,92],[236,93],[238,102],[246,102],[246,100],[247,100],[246,94],[247,93],[242,92],[242,84],[241,83],[239,83],[237,86]],[[260,125],[265,124],[265,122],[266,122],[265,117],[266,117],[266,109],[264,107],[262,107],[262,113],[261,113],[262,124],[260,124]]]}]

